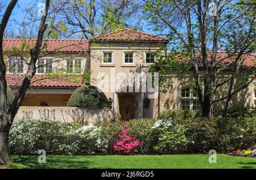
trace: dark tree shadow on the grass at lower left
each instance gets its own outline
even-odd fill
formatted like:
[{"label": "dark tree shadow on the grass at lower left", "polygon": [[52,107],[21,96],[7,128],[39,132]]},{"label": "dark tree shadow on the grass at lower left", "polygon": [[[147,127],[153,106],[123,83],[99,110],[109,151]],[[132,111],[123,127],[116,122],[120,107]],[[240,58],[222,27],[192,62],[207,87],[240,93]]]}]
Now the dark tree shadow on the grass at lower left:
[{"label": "dark tree shadow on the grass at lower left", "polygon": [[[90,161],[81,160],[76,156],[46,156],[46,163],[40,164],[38,156],[15,156],[11,158],[14,164],[19,164],[22,168],[32,169],[63,169],[63,168],[88,168]],[[8,168],[17,168],[15,165]],[[19,167],[18,167],[19,168]]]}]

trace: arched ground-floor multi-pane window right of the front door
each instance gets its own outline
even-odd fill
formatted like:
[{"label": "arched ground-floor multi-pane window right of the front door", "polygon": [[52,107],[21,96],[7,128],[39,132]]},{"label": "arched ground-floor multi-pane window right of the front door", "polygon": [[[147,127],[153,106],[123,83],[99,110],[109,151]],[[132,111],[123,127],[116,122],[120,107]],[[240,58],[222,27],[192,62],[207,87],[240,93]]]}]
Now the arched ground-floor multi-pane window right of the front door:
[{"label": "arched ground-floor multi-pane window right of the front door", "polygon": [[200,110],[201,106],[197,98],[197,92],[193,87],[181,89],[181,109]]}]

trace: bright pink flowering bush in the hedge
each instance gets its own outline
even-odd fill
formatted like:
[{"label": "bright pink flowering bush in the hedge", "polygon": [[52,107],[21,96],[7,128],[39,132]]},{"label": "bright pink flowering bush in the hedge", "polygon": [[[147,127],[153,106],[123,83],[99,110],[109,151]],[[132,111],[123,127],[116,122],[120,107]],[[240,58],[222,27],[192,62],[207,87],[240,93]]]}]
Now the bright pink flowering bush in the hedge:
[{"label": "bright pink flowering bush in the hedge", "polygon": [[122,126],[122,131],[118,133],[118,139],[113,145],[115,152],[121,152],[124,154],[133,154],[138,148],[140,142],[133,135],[128,135],[127,126]]}]

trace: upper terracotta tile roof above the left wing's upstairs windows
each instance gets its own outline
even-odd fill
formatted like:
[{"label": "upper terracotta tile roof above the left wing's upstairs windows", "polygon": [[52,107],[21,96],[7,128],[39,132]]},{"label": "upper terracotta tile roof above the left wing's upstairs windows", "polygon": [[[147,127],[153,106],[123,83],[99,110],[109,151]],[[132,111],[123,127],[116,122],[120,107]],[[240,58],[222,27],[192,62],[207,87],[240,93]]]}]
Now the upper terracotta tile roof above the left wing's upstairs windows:
[{"label": "upper terracotta tile roof above the left wing's upstairs windows", "polygon": [[[20,48],[23,43],[34,47],[36,40],[5,39],[3,40],[3,51],[11,48]],[[46,40],[43,41],[45,44]],[[47,52],[86,52],[89,50],[89,40],[47,40]]]}]

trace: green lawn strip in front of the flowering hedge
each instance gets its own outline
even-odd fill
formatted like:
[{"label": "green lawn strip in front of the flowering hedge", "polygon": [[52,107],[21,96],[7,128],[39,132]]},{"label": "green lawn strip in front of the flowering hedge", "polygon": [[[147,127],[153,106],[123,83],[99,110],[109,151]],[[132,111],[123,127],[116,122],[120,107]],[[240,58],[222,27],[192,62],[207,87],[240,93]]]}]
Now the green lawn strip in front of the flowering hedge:
[{"label": "green lawn strip in front of the flowering hedge", "polygon": [[256,158],[217,155],[210,164],[209,155],[137,155],[137,156],[47,156],[46,164],[38,156],[11,156],[13,164],[0,168],[256,168]]}]

